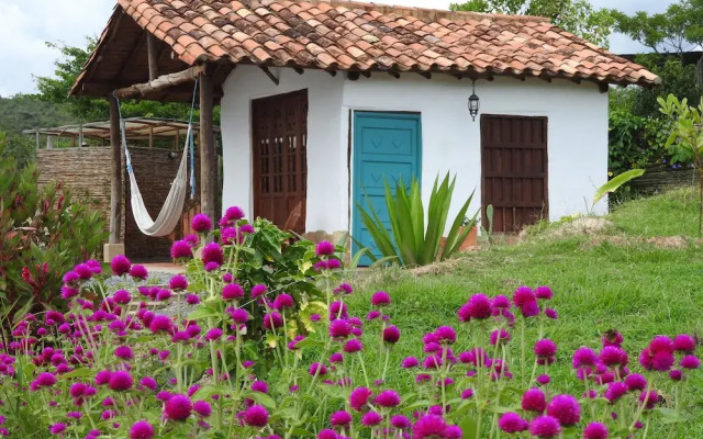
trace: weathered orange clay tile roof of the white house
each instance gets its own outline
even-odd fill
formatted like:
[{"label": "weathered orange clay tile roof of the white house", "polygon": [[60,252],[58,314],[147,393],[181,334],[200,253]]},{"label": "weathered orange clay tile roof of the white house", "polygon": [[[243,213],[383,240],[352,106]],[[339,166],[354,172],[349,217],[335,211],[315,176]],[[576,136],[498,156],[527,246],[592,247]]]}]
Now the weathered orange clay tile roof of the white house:
[{"label": "weathered orange clay tile roof of the white house", "polygon": [[[397,69],[654,86],[641,66],[547,19],[343,0],[118,0],[137,24],[198,61]],[[104,33],[103,33],[104,36]]]}]

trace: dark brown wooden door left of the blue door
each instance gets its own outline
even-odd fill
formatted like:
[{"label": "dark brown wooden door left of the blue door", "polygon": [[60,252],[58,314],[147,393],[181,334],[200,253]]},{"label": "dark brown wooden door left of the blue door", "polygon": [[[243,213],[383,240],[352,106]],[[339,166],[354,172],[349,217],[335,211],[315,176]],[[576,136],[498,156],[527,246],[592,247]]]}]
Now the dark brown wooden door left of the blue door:
[{"label": "dark brown wooden door left of the blue door", "polygon": [[252,136],[254,215],[304,233],[308,90],[252,101]]}]

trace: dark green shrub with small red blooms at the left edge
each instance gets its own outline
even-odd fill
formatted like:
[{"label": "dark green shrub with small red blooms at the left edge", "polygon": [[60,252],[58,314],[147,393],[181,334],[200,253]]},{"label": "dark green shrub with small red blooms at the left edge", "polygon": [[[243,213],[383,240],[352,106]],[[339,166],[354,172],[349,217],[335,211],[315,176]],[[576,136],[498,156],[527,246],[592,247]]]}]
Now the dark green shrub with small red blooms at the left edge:
[{"label": "dark green shrub with small red blooms at the left edge", "polygon": [[59,183],[37,185],[0,143],[0,293],[10,311],[60,306],[62,275],[98,250],[103,221]]}]

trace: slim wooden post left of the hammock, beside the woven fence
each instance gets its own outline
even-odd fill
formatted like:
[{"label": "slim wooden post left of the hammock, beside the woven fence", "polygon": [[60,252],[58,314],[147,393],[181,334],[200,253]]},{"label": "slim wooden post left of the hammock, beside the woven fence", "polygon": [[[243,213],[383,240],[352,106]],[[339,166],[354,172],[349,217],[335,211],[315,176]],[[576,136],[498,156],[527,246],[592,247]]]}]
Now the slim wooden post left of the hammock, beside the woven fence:
[{"label": "slim wooden post left of the hammock, beside the woven fence", "polygon": [[110,181],[110,244],[122,243],[122,145],[118,100],[110,97],[110,147],[112,172]]}]

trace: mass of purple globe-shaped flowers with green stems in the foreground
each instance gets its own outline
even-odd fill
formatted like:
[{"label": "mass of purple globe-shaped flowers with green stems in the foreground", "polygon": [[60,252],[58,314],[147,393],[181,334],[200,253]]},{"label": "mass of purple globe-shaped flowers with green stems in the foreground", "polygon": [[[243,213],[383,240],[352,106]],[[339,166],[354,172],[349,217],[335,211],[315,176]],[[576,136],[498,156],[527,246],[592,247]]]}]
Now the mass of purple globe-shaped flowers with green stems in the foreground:
[{"label": "mass of purple globe-shaped flowers with green stems in the foreground", "polygon": [[[189,262],[193,283],[171,280],[189,297],[197,295],[190,302],[200,302],[185,318],[143,303],[140,294],[150,294],[143,288],[104,295],[93,305],[81,292],[100,283],[99,268],[76,266],[63,290],[69,313],[30,314],[5,335],[0,434],[644,438],[650,428],[673,430],[683,419],[687,379],[700,367],[691,336],[655,337],[637,367],[622,348],[622,335],[607,333],[598,350],[578,349],[571,357],[573,378],[558,382],[551,375],[563,375],[553,369],[565,353],[548,337],[558,325],[549,288],[522,286],[512,299],[475,294],[458,309],[458,325],[447,323],[422,340],[406,341],[403,328],[392,324],[399,308],[388,293],[372,295],[366,317],[352,314],[346,301],[354,292],[338,284],[341,264],[330,243],[314,250],[301,244],[305,255],[312,252],[299,267],[301,275],[310,269],[319,275],[308,278],[310,288],[295,299],[284,289],[244,284],[249,281],[243,260],[259,254],[253,244],[268,224],[257,229],[242,216],[225,218],[215,233],[220,240],[210,244],[209,218],[199,217],[201,236],[189,239],[202,247],[202,257]],[[288,251],[272,247],[274,254]],[[190,259],[193,249],[187,243],[174,250]],[[265,270],[275,273],[278,261],[269,262]],[[112,270],[145,277],[124,257],[112,261]],[[291,325],[314,297],[322,299],[325,312]],[[263,316],[252,318],[255,313]],[[257,325],[264,335],[249,330]],[[538,327],[539,339],[526,340],[526,327]],[[270,367],[257,368],[261,344],[272,352]],[[401,362],[393,354],[398,344],[414,344],[417,357]],[[676,408],[662,406],[665,393],[674,395]]]}]

